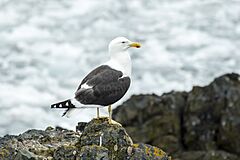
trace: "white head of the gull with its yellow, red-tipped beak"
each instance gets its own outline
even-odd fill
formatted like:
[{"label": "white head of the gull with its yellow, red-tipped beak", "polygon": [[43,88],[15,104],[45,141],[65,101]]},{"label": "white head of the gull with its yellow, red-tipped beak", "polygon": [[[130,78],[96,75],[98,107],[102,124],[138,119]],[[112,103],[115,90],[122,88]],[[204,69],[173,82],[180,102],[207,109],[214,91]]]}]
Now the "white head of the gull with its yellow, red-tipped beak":
[{"label": "white head of the gull with its yellow, red-tipped beak", "polygon": [[117,37],[113,39],[108,46],[110,53],[124,52],[130,47],[140,48],[140,43],[132,42],[125,37]]}]

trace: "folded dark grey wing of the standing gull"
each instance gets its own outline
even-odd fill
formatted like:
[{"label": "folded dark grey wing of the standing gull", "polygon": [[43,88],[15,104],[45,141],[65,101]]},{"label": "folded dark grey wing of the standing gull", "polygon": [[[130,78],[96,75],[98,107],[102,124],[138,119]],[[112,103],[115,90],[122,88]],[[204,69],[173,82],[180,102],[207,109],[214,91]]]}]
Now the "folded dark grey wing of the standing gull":
[{"label": "folded dark grey wing of the standing gull", "polygon": [[121,71],[107,65],[100,66],[89,73],[81,83],[92,88],[83,89],[80,85],[75,98],[82,104],[113,104],[125,95],[130,86],[130,78],[122,76]]}]

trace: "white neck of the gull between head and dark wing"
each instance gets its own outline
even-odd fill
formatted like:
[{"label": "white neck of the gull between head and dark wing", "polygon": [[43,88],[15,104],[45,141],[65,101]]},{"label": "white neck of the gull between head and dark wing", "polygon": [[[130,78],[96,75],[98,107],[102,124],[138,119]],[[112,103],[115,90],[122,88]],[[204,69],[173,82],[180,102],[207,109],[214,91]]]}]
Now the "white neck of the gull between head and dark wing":
[{"label": "white neck of the gull between head and dark wing", "polygon": [[123,76],[131,77],[132,62],[127,50],[121,52],[109,52],[110,60],[106,63],[111,68],[123,72]]}]

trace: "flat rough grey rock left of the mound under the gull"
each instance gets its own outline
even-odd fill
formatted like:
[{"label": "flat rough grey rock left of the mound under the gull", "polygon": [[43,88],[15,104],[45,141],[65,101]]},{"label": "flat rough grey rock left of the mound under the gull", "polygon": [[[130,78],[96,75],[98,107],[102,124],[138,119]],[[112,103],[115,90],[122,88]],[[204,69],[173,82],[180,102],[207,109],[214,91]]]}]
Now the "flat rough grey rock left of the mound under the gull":
[{"label": "flat rough grey rock left of the mound under the gull", "polygon": [[51,159],[61,146],[75,146],[79,133],[70,130],[28,130],[19,136],[0,138],[0,159]]}]

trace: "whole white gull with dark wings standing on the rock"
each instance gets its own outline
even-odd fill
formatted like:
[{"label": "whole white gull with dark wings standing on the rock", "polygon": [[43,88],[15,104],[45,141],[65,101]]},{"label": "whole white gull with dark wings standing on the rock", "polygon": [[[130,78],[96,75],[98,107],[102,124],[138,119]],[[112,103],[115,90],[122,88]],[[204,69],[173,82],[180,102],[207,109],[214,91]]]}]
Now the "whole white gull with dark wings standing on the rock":
[{"label": "whole white gull with dark wings standing on the rock", "polygon": [[132,62],[129,48],[140,48],[141,44],[125,37],[117,37],[108,45],[110,59],[92,70],[81,81],[74,98],[51,105],[51,108],[63,108],[63,116],[76,108],[108,106],[109,122],[112,122],[112,104],[119,101],[128,91],[131,83]]}]

